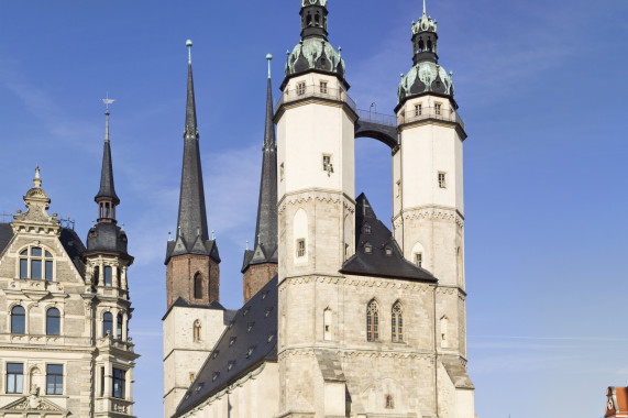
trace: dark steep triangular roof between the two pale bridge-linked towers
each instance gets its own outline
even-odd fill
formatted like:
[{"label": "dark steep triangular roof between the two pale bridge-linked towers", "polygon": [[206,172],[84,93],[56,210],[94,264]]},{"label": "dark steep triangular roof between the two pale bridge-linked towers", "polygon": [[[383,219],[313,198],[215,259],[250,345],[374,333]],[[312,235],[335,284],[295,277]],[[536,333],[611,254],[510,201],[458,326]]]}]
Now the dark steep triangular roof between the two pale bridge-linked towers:
[{"label": "dark steep triangular roof between the two pale bridge-linked towers", "polygon": [[340,273],[437,282],[431,273],[404,257],[393,233],[377,219],[364,194],[357,197],[355,207],[355,254]]}]

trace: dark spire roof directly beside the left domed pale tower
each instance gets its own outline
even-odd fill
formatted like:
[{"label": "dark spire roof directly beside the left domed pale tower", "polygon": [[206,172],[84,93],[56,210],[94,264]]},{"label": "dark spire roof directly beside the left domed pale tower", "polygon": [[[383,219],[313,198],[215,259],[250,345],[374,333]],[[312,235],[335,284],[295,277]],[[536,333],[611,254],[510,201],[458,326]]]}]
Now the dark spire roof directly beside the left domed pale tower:
[{"label": "dark spire roof directly beside the left domed pale tower", "polygon": [[244,253],[244,273],[252,264],[277,263],[277,144],[275,123],[273,122],[273,82],[271,80],[271,55],[268,59],[268,85],[266,88],[266,129],[262,147],[262,178],[260,180],[260,200],[257,204],[257,224],[255,245]]}]

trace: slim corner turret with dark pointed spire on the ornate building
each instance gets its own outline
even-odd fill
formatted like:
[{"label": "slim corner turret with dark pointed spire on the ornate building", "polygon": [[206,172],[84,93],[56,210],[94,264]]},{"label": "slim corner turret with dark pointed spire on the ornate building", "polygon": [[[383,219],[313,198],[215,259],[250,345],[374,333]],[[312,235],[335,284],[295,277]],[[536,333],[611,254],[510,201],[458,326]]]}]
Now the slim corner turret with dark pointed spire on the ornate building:
[{"label": "slim corner turret with dark pointed spire on the ornate building", "polygon": [[112,413],[120,411],[133,414],[133,367],[139,358],[129,337],[133,309],[126,271],[133,257],[126,250],[126,233],[118,226],[115,211],[120,199],[113,184],[109,110],[104,116],[100,189],[95,197],[98,220],[88,232],[87,251],[82,253],[87,271],[86,294],[93,295],[90,299],[95,318],[91,334],[98,349],[95,358],[95,392],[99,399],[95,405],[95,417],[111,417]]}]

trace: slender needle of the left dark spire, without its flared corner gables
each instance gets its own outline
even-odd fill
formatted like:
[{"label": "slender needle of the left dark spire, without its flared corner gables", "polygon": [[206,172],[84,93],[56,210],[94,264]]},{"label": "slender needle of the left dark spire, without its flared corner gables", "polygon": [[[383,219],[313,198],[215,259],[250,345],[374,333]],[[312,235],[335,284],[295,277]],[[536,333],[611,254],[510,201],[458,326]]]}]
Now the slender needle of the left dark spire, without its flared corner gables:
[{"label": "slender needle of the left dark spire, without its flared corner gables", "polygon": [[177,239],[183,238],[189,246],[188,250],[191,250],[197,237],[200,237],[205,242],[209,240],[209,233],[207,228],[205,188],[202,184],[202,168],[198,142],[199,135],[196,120],[190,53],[191,41],[187,41],[186,45],[188,47],[188,84]]}]

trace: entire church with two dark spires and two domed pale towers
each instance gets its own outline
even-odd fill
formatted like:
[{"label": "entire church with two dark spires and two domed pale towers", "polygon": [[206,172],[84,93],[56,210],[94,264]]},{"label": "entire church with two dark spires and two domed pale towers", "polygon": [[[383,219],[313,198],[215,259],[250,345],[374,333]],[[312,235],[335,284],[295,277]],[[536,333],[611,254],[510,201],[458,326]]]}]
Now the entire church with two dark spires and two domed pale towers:
[{"label": "entire church with two dark spires and two domed pale towers", "polygon": [[[466,133],[452,74],[439,64],[437,22],[423,3],[412,67],[386,124],[349,96],[327,3],[301,0],[301,40],[276,106],[268,72],[255,241],[244,253],[236,311],[220,305],[188,61],[178,224],[165,260],[166,418],[475,417]],[[390,146],[393,231],[356,196],[361,136]]]}]

